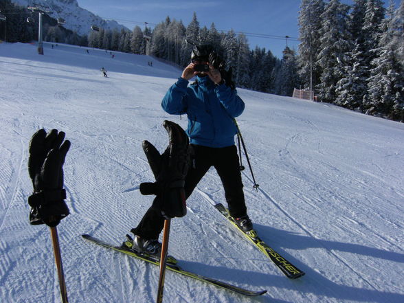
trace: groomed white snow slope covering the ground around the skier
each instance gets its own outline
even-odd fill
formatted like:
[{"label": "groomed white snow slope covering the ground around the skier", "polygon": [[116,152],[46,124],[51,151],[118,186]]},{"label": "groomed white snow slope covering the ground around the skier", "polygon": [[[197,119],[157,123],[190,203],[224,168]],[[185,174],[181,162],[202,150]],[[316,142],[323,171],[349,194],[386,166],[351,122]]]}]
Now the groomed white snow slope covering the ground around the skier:
[{"label": "groomed white snow slope covering the ground around the skier", "polygon": [[[58,225],[69,302],[154,302],[158,269],[80,238],[119,245],[153,201],[142,140],[164,150],[161,109],[181,71],[148,56],[45,44],[0,44],[0,302],[60,302],[49,229],[28,223],[27,148],[39,128],[71,140],[70,216]],[[109,78],[100,68],[105,67]],[[169,253],[188,270],[268,293],[245,298],[166,274],[164,302],[404,302],[404,124],[293,98],[238,90],[254,175],[243,172],[255,227],[306,271],[288,280],[214,210],[210,170],[172,220]],[[244,159],[243,164],[246,164]]]}]

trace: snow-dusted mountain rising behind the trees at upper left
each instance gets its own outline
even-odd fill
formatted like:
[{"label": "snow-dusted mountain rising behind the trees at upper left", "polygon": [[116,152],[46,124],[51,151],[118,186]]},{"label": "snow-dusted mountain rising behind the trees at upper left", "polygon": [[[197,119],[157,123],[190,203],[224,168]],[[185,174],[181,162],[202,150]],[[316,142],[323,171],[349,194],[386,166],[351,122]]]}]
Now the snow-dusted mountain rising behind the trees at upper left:
[{"label": "snow-dusted mountain rising behind the trees at upper left", "polygon": [[113,20],[104,20],[100,16],[80,8],[77,0],[12,0],[12,2],[23,5],[44,5],[49,12],[49,16],[54,19],[63,18],[68,30],[77,32],[79,35],[88,35],[91,30],[91,25],[97,25],[105,30],[117,29],[120,31],[122,28],[128,30],[124,25],[120,25]]}]

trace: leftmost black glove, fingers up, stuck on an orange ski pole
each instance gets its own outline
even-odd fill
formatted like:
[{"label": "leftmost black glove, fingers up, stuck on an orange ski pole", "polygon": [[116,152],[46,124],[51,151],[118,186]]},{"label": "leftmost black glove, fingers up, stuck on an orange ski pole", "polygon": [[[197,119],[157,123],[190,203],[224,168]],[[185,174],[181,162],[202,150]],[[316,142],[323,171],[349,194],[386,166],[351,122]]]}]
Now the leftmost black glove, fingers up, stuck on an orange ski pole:
[{"label": "leftmost black glove, fingers up, stuck on an orange ski pole", "polygon": [[54,227],[69,214],[63,188],[63,164],[70,142],[63,142],[64,139],[65,133],[56,129],[48,134],[41,129],[32,136],[28,159],[28,172],[34,186],[34,193],[28,197],[32,225]]}]

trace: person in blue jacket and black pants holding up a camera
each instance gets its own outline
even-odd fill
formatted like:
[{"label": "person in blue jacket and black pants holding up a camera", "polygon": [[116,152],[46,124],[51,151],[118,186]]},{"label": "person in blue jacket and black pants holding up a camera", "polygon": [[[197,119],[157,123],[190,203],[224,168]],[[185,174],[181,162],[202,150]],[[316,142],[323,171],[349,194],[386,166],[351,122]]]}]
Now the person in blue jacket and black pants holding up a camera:
[{"label": "person in blue jacket and black pants holding up a camera", "polygon": [[[207,66],[209,67],[206,70]],[[225,71],[225,63],[209,45],[194,46],[191,63],[177,82],[168,89],[161,106],[174,115],[188,115],[190,137],[190,166],[185,178],[186,198],[211,166],[223,183],[229,213],[244,231],[253,228],[247,215],[234,135],[237,133],[234,117],[244,111],[245,104],[237,96],[232,70]],[[205,71],[199,71],[205,68]],[[197,80],[188,87],[189,80]],[[150,255],[159,256],[158,238],[164,225],[164,216],[156,207],[150,207],[137,227],[133,243],[126,246]],[[125,243],[124,243],[125,244]]]}]

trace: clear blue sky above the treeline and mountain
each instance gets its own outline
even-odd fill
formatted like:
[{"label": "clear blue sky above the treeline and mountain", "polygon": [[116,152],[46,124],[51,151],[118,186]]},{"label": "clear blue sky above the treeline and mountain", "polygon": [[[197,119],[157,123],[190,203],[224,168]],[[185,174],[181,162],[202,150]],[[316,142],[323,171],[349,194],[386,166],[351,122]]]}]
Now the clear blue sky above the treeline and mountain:
[{"label": "clear blue sky above the treeline and mountain", "polygon": [[[352,0],[342,2],[353,3]],[[400,0],[394,2],[399,5]],[[250,49],[256,45],[265,47],[278,58],[282,58],[287,42],[289,47],[298,49],[300,3],[300,0],[78,0],[80,7],[105,19],[114,19],[131,30],[136,25],[144,29],[144,22],[154,27],[166,16],[182,20],[187,26],[196,12],[201,27],[209,28],[213,22],[217,30],[248,33]],[[291,38],[287,41],[285,36]]]}]

